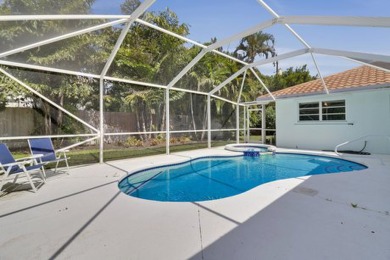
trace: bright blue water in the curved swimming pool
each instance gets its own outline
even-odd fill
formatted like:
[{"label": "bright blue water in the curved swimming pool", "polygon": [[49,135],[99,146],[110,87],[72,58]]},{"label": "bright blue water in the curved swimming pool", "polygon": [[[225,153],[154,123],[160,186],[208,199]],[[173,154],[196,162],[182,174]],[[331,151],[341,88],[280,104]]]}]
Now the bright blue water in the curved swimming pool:
[{"label": "bright blue water in the curved swimming pool", "polygon": [[337,158],[302,154],[203,157],[135,172],[122,179],[119,188],[148,200],[205,201],[237,195],[275,180],[366,168]]}]

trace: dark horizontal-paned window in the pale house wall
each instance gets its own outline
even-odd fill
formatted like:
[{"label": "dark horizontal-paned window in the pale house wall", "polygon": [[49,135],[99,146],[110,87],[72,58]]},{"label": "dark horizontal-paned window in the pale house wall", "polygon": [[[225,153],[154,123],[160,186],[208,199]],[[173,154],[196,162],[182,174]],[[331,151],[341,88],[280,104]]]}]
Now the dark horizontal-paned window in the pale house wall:
[{"label": "dark horizontal-paned window in the pale house wall", "polygon": [[299,121],[344,121],[345,100],[299,104]]}]

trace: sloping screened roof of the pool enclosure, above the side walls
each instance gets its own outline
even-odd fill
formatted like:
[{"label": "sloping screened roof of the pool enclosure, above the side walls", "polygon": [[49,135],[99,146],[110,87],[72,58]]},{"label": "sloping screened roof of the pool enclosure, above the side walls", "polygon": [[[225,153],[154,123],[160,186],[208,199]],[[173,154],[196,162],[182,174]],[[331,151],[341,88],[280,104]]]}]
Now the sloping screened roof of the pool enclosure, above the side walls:
[{"label": "sloping screened roof of the pool enclosure, above the side walls", "polygon": [[[361,64],[390,62],[390,4],[386,0],[353,4],[348,0],[201,0],[191,3],[149,0],[143,1],[135,11],[137,1],[124,2],[74,0],[45,4],[45,1],[23,1],[23,5],[2,1],[3,7],[9,7],[0,16],[3,72],[12,75],[15,68],[21,67],[28,68],[30,73],[51,71],[108,82],[211,94],[236,102],[237,95],[232,97],[221,89],[228,88],[239,77],[242,80],[244,73],[275,73],[276,61],[281,70],[307,64],[310,72],[319,78]],[[160,23],[145,14],[167,10],[177,15],[175,26]],[[25,31],[18,31],[21,23]],[[132,30],[145,33],[139,33],[138,39],[129,39],[126,35]],[[276,56],[258,55],[252,62],[233,57],[240,40],[259,31],[274,36]],[[148,41],[148,37],[168,41],[171,46],[182,46],[177,55],[186,59],[177,60],[164,53],[148,54],[150,57],[145,58],[143,55],[150,50],[127,51],[137,42]],[[93,46],[86,40],[91,38]],[[65,48],[69,46],[75,51],[69,53]],[[45,56],[40,56],[41,52],[45,52]],[[86,55],[90,58],[88,61],[84,58]],[[137,59],[149,59],[150,66],[142,65],[144,70],[139,69]],[[231,65],[217,81],[196,89],[189,87],[191,73],[199,71],[199,66],[218,66],[221,60],[229,60]],[[160,71],[156,72],[157,69]],[[323,85],[326,93],[326,84]],[[267,88],[260,77],[258,87]]]}]

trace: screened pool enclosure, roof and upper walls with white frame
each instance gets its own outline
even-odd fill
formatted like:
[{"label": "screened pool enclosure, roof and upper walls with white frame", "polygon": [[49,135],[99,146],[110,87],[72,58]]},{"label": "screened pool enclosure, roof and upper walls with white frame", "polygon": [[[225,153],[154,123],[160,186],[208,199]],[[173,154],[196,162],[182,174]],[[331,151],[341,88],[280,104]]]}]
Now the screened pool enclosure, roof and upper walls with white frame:
[{"label": "screened pool enclosure, roof and upper walls with white frame", "polygon": [[[168,154],[171,134],[239,142],[240,106],[275,100],[267,75],[303,66],[328,94],[325,76],[362,64],[389,72],[378,65],[390,63],[389,9],[388,0],[0,0],[0,108],[10,96],[32,101],[44,122],[33,135],[88,138],[68,148],[100,138],[100,162],[113,137],[164,135]],[[0,140],[31,134],[15,135]]]}]

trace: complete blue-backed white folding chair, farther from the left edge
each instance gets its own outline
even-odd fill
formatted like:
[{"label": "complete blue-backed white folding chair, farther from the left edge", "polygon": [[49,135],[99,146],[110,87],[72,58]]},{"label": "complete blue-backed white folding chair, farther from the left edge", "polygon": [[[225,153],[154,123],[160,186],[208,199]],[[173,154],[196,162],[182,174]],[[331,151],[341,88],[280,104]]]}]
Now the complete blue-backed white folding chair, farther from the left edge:
[{"label": "complete blue-backed white folding chair, farther from the left edge", "polygon": [[53,143],[50,138],[34,138],[29,139],[28,144],[30,146],[31,154],[43,155],[39,157],[40,163],[56,163],[54,172],[57,172],[58,164],[62,161],[65,162],[67,170],[69,170],[68,157],[66,153],[68,150],[59,149],[54,150]]}]

